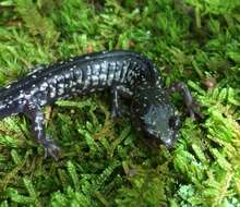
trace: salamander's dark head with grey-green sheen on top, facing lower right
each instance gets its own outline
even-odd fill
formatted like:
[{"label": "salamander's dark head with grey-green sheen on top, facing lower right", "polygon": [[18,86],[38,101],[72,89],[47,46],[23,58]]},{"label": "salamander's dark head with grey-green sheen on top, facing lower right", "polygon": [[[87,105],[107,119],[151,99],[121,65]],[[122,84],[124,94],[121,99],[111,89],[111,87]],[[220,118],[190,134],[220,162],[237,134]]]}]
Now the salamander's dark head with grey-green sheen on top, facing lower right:
[{"label": "salamander's dark head with grey-green sheen on top, facing lower right", "polygon": [[178,139],[180,119],[176,114],[175,107],[168,102],[164,94],[160,94],[163,95],[160,98],[159,94],[154,95],[156,92],[149,93],[143,93],[142,96],[145,98],[141,98],[132,107],[134,120],[144,137],[159,141],[170,148]]}]

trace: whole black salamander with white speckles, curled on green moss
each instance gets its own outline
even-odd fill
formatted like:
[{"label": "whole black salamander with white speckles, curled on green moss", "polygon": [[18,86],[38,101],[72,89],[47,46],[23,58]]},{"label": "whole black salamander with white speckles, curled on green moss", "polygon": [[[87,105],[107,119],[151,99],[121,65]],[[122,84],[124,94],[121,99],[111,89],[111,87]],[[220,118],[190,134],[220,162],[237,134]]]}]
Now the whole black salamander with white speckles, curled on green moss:
[{"label": "whole black salamander with white speckles, curled on green moss", "polygon": [[58,159],[59,147],[45,134],[43,106],[73,96],[110,88],[112,118],[121,117],[119,100],[131,101],[130,115],[145,137],[171,147],[178,138],[180,121],[168,94],[180,92],[190,115],[196,107],[187,86],[176,83],[165,88],[157,68],[141,53],[116,50],[93,52],[49,66],[36,66],[24,78],[0,89],[0,119],[24,113],[32,121],[34,137],[45,156]]}]

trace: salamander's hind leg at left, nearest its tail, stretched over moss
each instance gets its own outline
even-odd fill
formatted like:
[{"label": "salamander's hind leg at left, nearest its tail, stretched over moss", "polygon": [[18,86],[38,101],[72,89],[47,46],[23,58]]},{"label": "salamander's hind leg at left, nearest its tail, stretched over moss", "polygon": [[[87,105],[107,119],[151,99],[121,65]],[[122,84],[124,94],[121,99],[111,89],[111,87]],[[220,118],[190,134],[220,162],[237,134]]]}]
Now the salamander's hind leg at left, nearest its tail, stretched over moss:
[{"label": "salamander's hind leg at left, nearest its tail, stretched over moss", "polygon": [[40,107],[34,104],[28,104],[24,107],[23,112],[32,121],[32,130],[37,143],[40,143],[44,146],[45,158],[51,156],[55,160],[58,160],[59,147],[49,135],[45,134],[44,113],[41,112]]}]

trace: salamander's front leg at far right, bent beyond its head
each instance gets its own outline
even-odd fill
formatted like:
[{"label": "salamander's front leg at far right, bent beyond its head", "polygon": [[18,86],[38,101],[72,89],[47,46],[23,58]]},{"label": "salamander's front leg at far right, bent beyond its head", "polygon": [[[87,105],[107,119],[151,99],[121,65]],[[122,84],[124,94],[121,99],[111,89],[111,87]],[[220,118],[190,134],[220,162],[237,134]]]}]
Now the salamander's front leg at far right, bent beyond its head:
[{"label": "salamander's front leg at far right, bent beyond its head", "polygon": [[203,118],[203,114],[199,111],[199,105],[193,100],[188,86],[184,83],[177,82],[173,83],[169,88],[166,89],[167,93],[180,93],[183,96],[184,104],[187,106],[187,111],[191,118],[195,119],[195,115]]}]

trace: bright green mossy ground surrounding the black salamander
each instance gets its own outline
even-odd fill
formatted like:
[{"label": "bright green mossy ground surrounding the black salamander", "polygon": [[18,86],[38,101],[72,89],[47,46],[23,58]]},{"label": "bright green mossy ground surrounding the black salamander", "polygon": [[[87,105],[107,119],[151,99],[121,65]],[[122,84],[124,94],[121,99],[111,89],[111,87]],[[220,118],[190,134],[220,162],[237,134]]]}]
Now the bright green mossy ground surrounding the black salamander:
[{"label": "bright green mossy ground surrounding the black salamander", "polygon": [[[239,0],[2,0],[0,84],[89,51],[133,49],[166,85],[185,82],[204,119],[183,115],[173,150],[149,148],[108,93],[46,108],[60,161],[22,115],[0,122],[0,206],[240,206]],[[175,97],[181,107],[179,97]],[[183,109],[180,108],[183,111]]]}]

